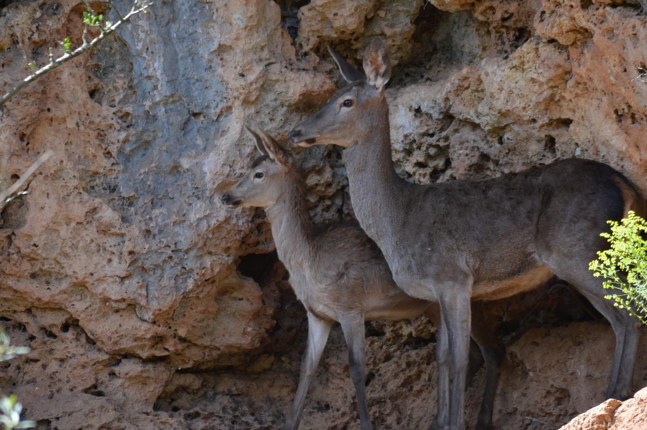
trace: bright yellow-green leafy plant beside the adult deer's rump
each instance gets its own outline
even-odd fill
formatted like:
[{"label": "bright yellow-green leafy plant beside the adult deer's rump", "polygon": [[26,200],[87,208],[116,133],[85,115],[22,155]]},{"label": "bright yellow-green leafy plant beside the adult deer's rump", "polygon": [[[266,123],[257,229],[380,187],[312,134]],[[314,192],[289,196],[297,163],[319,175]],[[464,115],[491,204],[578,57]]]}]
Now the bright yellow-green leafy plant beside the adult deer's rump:
[{"label": "bright yellow-green leafy plant beside the adult deer's rump", "polygon": [[604,288],[613,290],[604,298],[647,325],[647,220],[629,211],[620,222],[607,222],[611,233],[600,236],[611,248],[598,251],[598,259],[591,261],[589,270],[595,277],[604,277]]}]

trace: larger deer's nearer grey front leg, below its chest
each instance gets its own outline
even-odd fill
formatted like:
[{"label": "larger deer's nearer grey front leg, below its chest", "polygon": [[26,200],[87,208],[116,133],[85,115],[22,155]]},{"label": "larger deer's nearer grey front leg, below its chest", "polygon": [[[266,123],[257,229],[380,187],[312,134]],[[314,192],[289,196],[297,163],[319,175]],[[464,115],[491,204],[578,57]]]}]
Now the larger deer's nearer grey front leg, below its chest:
[{"label": "larger deer's nearer grey front leg, below its chest", "polygon": [[449,428],[463,430],[465,423],[465,382],[469,363],[471,288],[465,285],[444,286],[439,302],[441,326],[446,327],[452,379]]}]

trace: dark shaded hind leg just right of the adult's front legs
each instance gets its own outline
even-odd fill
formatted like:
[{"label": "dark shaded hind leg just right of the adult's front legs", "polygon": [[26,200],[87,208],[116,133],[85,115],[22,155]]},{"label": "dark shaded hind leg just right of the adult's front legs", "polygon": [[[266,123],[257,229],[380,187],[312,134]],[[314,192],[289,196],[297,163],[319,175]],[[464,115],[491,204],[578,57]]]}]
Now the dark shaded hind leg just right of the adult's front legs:
[{"label": "dark shaded hind leg just right of the adult's front legs", "polygon": [[472,339],[481,349],[485,360],[485,391],[481,401],[481,409],[476,422],[477,430],[489,429],[492,426],[492,411],[494,409],[494,396],[499,382],[499,370],[505,346],[488,326],[483,314],[483,303],[472,303]]}]

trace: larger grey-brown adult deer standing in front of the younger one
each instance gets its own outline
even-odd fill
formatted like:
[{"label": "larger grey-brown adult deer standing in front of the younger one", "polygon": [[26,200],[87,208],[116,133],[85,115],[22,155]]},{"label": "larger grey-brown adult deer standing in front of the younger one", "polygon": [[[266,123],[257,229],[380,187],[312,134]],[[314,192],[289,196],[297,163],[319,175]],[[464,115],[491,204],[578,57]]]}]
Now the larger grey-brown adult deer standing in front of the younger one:
[{"label": "larger grey-brown adult deer standing in front of the younger one", "polygon": [[366,78],[331,55],[349,84],[289,136],[304,147],[345,147],[360,226],[404,292],[440,303],[439,427],[463,430],[470,299],[511,296],[553,275],[576,286],[611,323],[616,349],[607,397],[630,396],[637,319],[604,299],[588,264],[605,246],[599,234],[608,230],[606,220],[630,209],[645,213],[638,191],[611,167],[576,159],[488,180],[411,184],[393,169],[384,97],[391,65],[382,43],[374,39],[366,48]]}]

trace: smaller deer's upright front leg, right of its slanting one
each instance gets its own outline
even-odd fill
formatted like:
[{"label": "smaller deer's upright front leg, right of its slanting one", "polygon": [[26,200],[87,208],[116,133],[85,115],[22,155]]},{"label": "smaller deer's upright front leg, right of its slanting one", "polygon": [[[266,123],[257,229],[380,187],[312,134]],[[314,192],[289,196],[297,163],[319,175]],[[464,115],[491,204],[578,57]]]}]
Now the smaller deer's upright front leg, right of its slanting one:
[{"label": "smaller deer's upright front leg, right of its slanting one", "polygon": [[364,357],[364,315],[359,313],[347,314],[339,321],[344,330],[344,338],[348,345],[348,366],[351,379],[357,393],[357,409],[360,413],[360,428],[373,430],[371,417],[366,405],[366,358]]}]

